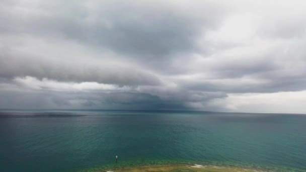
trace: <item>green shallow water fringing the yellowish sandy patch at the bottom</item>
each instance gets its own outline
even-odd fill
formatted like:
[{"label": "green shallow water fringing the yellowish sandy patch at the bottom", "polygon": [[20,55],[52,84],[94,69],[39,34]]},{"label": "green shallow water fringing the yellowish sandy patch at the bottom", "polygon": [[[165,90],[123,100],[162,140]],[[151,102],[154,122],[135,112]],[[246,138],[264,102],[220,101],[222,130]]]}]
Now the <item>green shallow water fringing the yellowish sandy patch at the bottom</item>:
[{"label": "green shallow water fringing the yellowish sandy patch at the bottom", "polygon": [[[203,166],[208,166],[206,169],[202,168],[184,168],[184,166],[194,166],[195,164],[201,164]],[[165,169],[169,170],[162,170],[162,167],[166,167]],[[183,168],[182,168],[183,167]],[[209,168],[211,167],[211,168]],[[220,167],[220,170],[213,170],[216,167]],[[182,159],[151,159],[151,160],[136,160],[136,161],[125,161],[120,162],[117,164],[107,164],[107,165],[100,165],[89,169],[82,169],[80,171],[88,171],[88,172],[96,172],[96,171],[138,171],[139,169],[146,169],[144,171],[235,171],[230,169],[250,169],[251,171],[297,171],[297,172],[304,172],[306,170],[297,169],[297,168],[289,168],[286,166],[280,165],[260,165],[260,164],[251,164],[251,163],[242,163],[242,162],[231,162],[231,161],[193,161],[193,160],[182,160]],[[152,170],[156,168],[156,170]],[[246,171],[246,170],[244,170]]]}]

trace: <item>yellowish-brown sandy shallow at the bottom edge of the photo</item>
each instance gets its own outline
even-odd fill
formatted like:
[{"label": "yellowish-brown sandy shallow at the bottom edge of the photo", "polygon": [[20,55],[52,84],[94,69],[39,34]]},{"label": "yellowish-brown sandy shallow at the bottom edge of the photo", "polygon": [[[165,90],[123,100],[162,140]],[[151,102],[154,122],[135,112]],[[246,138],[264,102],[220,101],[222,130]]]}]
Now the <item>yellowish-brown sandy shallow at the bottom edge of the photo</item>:
[{"label": "yellowish-brown sandy shallow at the bottom edge of the photo", "polygon": [[229,166],[215,166],[215,165],[183,165],[183,164],[173,164],[173,165],[147,165],[147,166],[137,166],[137,167],[122,167],[109,170],[97,170],[97,171],[108,171],[108,172],[261,172],[263,170],[249,169],[249,168],[239,168],[239,167],[229,167]]}]

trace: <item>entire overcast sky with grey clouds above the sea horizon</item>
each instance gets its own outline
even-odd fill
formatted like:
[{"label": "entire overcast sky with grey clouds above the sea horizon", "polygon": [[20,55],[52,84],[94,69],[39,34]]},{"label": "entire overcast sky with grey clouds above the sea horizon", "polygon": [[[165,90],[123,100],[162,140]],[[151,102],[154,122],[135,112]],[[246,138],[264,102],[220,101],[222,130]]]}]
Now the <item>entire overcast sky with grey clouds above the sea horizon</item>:
[{"label": "entire overcast sky with grey clouds above the sea horizon", "polygon": [[305,9],[0,0],[0,108],[306,113]]}]

